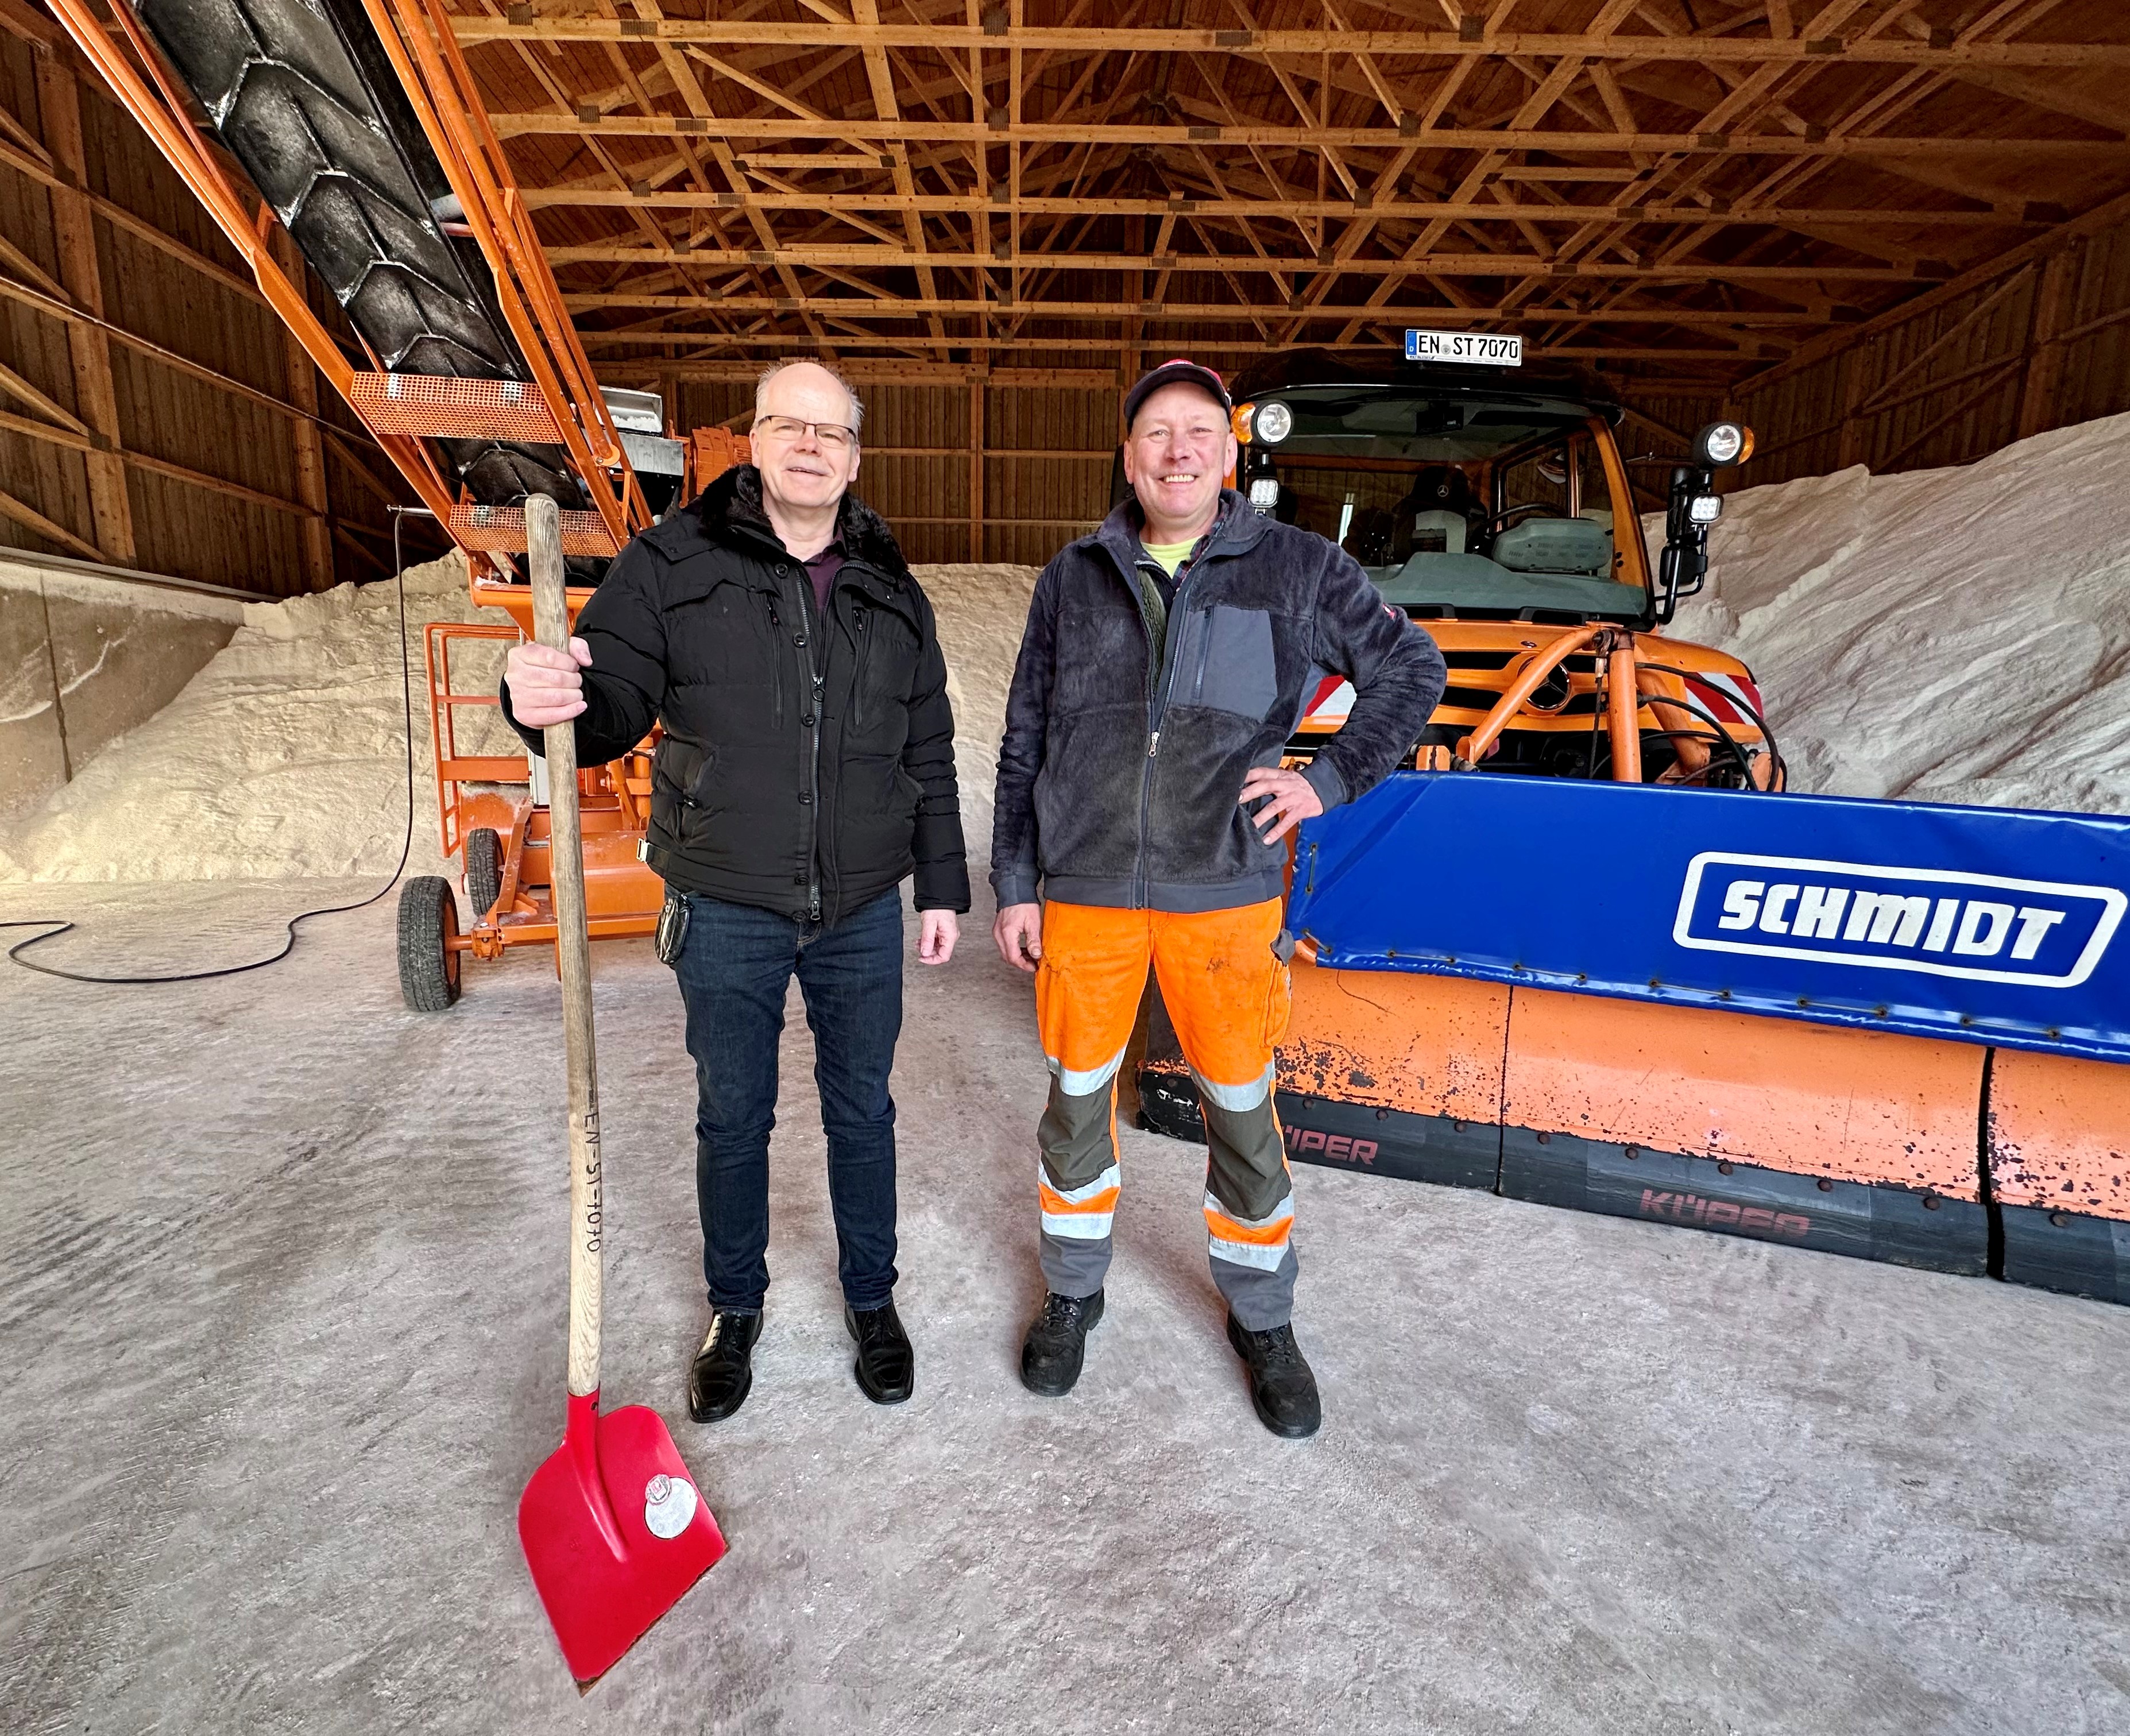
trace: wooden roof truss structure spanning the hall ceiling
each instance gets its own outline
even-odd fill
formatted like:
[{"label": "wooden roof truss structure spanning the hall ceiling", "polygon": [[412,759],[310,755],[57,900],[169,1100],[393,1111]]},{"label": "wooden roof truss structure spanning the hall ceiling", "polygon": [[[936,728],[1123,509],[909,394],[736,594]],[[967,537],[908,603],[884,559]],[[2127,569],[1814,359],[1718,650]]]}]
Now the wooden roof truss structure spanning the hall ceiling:
[{"label": "wooden roof truss structure spanning the hall ceiling", "polygon": [[2119,0],[447,0],[594,358],[1734,383],[2130,190]]}]

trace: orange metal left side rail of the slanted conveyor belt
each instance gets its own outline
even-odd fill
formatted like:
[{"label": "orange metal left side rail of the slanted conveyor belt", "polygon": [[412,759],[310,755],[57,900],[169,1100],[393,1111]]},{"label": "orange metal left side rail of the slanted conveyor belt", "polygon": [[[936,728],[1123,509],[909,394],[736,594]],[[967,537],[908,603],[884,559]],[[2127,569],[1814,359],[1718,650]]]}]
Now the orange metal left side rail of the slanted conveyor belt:
[{"label": "orange metal left side rail of the slanted conveyor belt", "polygon": [[[119,51],[119,45],[111,40],[102,23],[87,9],[83,0],[51,0],[51,11],[58,15],[60,23],[66,26],[68,36],[98,70],[102,81],[111,92],[126,104],[128,113],[141,124],[149,141],[162,151],[164,160],[179,173],[192,194],[207,207],[207,215],[215,219],[222,232],[230,239],[230,245],[243,253],[245,264],[251,266],[251,277],[260,285],[260,294],[266,296],[266,305],[273,307],[281,322],[296,334],[296,341],[305,347],[305,354],[317,366],[322,375],[332,383],[332,390],[341,398],[349,396],[349,383],[356,371],[349,366],[341,347],[332,341],[332,334],[320,324],[317,315],[311,313],[311,305],[305,300],[302,290],[288,281],[281,266],[275,264],[273,253],[266,251],[266,234],[271,232],[273,211],[271,207],[260,207],[258,219],[245,211],[243,200],[230,185],[222,166],[215,162],[213,153],[200,143],[190,117],[185,115],[183,102],[164,85],[162,62],[158,49],[145,40],[134,21],[130,9],[121,2],[113,6],[121,28],[134,43],[141,62],[151,70],[162,92],[149,89],[147,81],[134,70],[134,64]],[[360,407],[349,403],[356,415],[362,415]],[[364,422],[368,426],[368,422]],[[452,490],[445,486],[443,477],[437,473],[430,456],[405,435],[379,435],[371,428],[371,437],[383,447],[386,456],[398,466],[400,475],[413,486],[415,494],[422,498],[443,524],[452,511]]]}]

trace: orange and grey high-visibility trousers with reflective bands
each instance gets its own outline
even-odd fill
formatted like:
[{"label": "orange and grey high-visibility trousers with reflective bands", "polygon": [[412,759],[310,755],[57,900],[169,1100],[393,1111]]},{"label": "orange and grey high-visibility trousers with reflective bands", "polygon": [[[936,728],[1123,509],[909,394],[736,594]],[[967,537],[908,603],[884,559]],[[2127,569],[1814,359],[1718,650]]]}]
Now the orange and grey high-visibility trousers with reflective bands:
[{"label": "orange and grey high-visibility trousers with reflective bands", "polygon": [[1189,916],[1044,905],[1035,1020],[1050,1063],[1042,1148],[1044,1282],[1093,1295],[1110,1270],[1123,1180],[1116,1074],[1154,967],[1206,1106],[1206,1231],[1212,1276],[1250,1331],[1295,1304],[1293,1180],[1272,1108],[1272,1050],[1287,1035],[1291,982],[1280,901]]}]

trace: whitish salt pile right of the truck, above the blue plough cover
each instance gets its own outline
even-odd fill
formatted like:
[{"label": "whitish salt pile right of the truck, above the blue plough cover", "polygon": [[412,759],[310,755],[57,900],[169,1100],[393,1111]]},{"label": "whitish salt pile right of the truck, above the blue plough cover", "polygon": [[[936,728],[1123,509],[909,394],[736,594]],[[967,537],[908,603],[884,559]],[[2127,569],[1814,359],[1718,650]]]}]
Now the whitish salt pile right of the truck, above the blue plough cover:
[{"label": "whitish salt pile right of the truck, above the blue plough cover", "polygon": [[1672,633],[1753,669],[1791,788],[2130,814],[2130,415],[1749,488],[1708,552]]}]

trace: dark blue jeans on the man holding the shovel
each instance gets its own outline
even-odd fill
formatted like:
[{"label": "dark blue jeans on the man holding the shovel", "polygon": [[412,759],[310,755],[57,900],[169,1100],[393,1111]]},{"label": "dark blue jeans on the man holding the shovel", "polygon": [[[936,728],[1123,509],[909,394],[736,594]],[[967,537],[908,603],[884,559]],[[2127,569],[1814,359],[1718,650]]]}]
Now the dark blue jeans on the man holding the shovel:
[{"label": "dark blue jeans on the man holding the shovel", "polygon": [[694,1195],[709,1304],[758,1312],[769,1289],[769,1129],[777,1118],[777,1037],[792,971],[814,1031],[843,1299],[880,1308],[895,1289],[888,1069],[903,1029],[901,888],[833,929],[688,899],[688,941],[673,973],[694,1057]]}]

